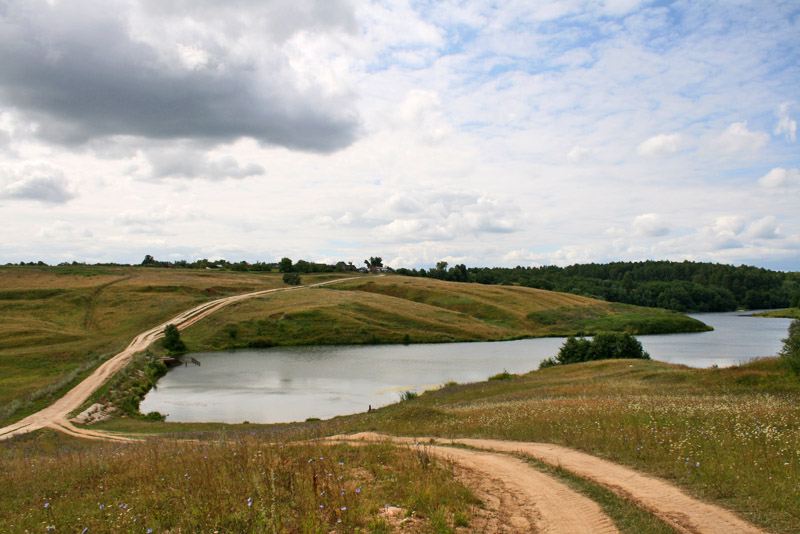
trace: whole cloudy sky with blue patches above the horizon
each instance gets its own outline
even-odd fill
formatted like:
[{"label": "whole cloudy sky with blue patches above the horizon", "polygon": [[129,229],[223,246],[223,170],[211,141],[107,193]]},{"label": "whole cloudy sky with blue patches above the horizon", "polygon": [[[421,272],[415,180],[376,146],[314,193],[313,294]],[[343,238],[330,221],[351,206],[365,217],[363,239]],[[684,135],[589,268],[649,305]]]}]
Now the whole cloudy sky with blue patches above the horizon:
[{"label": "whole cloudy sky with blue patches above the horizon", "polygon": [[800,270],[800,3],[5,0],[0,263]]}]

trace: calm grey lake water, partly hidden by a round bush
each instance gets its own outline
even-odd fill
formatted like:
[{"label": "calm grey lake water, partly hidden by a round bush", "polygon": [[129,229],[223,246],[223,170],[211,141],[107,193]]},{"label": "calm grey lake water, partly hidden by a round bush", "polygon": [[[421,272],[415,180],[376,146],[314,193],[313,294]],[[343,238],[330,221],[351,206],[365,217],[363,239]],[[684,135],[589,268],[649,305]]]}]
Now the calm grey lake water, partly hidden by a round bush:
[{"label": "calm grey lake water, partly hidden by a round bush", "polygon": [[[790,319],[694,314],[713,332],[639,336],[655,360],[692,367],[774,356]],[[399,400],[447,381],[524,373],[555,356],[563,338],[493,343],[281,347],[192,354],[201,366],[171,370],[142,401],[168,421],[277,423],[327,419]]]}]

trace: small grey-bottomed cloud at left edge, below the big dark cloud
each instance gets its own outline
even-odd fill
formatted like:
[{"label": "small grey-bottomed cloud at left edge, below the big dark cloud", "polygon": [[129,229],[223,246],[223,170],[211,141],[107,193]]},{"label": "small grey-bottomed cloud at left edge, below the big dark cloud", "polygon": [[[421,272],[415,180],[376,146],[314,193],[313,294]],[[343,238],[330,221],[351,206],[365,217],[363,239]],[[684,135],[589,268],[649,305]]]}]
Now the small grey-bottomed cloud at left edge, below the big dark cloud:
[{"label": "small grey-bottomed cloud at left edge, below the big dark cloud", "polygon": [[65,204],[75,198],[61,170],[47,164],[29,164],[19,172],[6,171],[11,179],[0,188],[0,197]]}]

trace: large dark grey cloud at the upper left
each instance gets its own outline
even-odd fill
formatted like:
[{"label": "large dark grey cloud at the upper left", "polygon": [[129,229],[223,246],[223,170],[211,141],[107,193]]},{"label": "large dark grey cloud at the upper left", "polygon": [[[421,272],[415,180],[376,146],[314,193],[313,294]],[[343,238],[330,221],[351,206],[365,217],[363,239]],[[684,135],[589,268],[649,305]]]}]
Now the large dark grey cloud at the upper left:
[{"label": "large dark grey cloud at the upper left", "polygon": [[[244,4],[180,4],[185,11],[122,0],[6,3],[0,102],[39,123],[40,138],[64,144],[252,137],[330,152],[356,139],[345,80],[303,70],[305,47],[318,44],[310,41],[352,29],[342,22],[352,16],[347,2],[248,2],[247,17]],[[287,11],[293,17],[281,19]],[[331,14],[339,16],[328,24]]]}]

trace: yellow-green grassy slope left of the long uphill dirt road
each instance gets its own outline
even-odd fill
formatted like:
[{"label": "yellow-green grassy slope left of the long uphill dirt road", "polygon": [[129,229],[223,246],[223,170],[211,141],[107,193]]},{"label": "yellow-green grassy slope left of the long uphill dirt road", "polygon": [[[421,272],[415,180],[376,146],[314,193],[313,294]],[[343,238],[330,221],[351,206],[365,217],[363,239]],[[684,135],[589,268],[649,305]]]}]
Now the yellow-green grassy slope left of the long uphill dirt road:
[{"label": "yellow-green grassy slope left of the long uphill dirt road", "polygon": [[50,402],[136,334],[183,310],[283,286],[277,274],[0,267],[0,422]]}]

